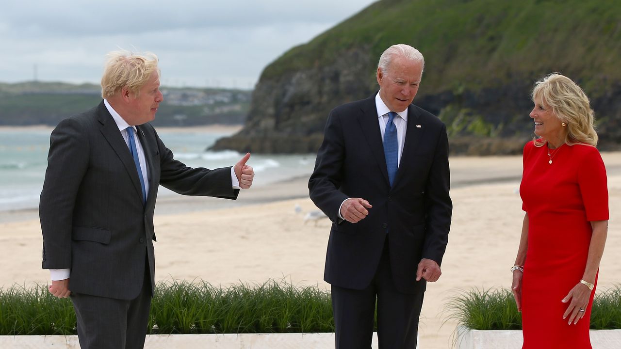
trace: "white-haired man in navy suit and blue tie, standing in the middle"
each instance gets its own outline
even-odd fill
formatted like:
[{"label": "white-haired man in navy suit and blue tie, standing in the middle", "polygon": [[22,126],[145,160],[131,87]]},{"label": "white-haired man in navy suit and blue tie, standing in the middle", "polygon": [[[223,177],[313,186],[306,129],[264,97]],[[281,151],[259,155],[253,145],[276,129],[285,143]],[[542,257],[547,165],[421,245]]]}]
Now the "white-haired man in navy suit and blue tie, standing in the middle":
[{"label": "white-haired man in navy suit and blue tie, standing in the middle", "polygon": [[424,58],[409,45],[380,57],[379,93],[330,112],[309,180],[332,220],[324,279],[332,285],[337,349],[413,349],[426,282],[448,242],[448,138],[412,104]]}]

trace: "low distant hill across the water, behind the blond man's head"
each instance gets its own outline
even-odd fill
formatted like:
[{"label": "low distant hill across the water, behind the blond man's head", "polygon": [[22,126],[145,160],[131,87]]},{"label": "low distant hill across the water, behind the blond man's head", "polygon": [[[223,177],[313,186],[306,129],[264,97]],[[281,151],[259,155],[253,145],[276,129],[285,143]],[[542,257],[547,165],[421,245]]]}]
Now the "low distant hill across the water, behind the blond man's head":
[{"label": "low distant hill across the water, behind the blond man's head", "polygon": [[[242,124],[252,91],[161,88],[155,125]],[[56,125],[101,102],[101,86],[27,81],[0,83],[0,125]]]}]

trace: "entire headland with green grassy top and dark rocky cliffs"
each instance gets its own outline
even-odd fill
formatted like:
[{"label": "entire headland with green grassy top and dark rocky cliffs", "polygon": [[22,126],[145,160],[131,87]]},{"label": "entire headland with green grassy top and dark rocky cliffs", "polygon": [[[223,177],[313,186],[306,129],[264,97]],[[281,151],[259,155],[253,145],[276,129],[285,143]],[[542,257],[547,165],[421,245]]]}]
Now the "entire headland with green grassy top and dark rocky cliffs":
[{"label": "entire headland with green grassy top and dark rocky cliffs", "polygon": [[555,71],[591,97],[602,147],[621,143],[621,1],[383,0],[267,66],[245,128],[216,148],[269,152],[297,137],[312,143],[294,152],[316,150],[330,109],[378,89],[394,43],[425,56],[414,102],[447,124],[455,152],[521,152],[533,82]]}]

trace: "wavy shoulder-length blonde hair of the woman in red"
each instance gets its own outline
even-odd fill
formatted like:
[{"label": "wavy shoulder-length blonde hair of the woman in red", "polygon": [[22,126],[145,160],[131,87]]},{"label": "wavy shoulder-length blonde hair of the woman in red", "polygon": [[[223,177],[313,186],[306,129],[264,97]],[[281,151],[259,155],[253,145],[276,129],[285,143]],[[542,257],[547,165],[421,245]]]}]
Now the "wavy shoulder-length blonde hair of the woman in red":
[{"label": "wavy shoulder-length blonde hair of the woman in red", "polygon": [[[589,98],[578,84],[559,73],[551,73],[535,83],[532,97],[533,102],[538,99],[545,102],[552,108],[554,116],[566,124],[565,144],[597,145],[594,113]],[[537,147],[546,142],[543,138],[535,139]]]}]

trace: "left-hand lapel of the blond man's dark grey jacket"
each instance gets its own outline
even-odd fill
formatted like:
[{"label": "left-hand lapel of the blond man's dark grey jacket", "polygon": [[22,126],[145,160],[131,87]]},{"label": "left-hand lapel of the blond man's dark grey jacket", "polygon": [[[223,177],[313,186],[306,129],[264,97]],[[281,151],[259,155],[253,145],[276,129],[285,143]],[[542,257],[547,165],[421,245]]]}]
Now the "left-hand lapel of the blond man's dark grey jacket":
[{"label": "left-hand lapel of the blond man's dark grey jacket", "polygon": [[112,150],[119,156],[120,161],[123,163],[127,174],[129,174],[134,184],[136,194],[140,198],[140,201],[142,201],[142,187],[138,181],[138,171],[136,170],[136,165],[134,165],[134,158],[132,158],[129,148],[127,148],[127,143],[125,143],[123,136],[120,134],[119,127],[117,127],[116,122],[112,119],[104,102],[101,102],[97,107],[97,118],[101,123],[101,134],[104,135],[104,138],[106,138]]}]

